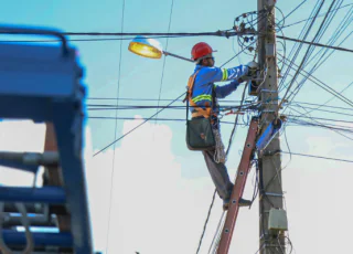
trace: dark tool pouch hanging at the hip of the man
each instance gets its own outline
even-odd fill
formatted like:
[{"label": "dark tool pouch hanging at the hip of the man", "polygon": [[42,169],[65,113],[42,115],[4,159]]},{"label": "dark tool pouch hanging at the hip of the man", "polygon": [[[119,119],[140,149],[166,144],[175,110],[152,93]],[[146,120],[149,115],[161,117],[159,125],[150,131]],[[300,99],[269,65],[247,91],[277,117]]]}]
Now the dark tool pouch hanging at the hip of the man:
[{"label": "dark tool pouch hanging at the hip of the man", "polygon": [[213,150],[216,141],[210,118],[186,120],[186,144],[190,150]]}]

